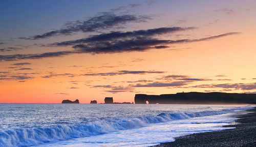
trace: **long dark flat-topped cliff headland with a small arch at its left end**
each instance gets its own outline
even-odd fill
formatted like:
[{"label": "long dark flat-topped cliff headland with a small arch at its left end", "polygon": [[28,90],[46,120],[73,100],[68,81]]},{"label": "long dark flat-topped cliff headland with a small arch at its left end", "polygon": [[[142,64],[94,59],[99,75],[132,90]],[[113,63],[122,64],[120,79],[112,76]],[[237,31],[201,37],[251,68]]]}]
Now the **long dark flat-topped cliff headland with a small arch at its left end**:
[{"label": "long dark flat-topped cliff headland with a small arch at its left end", "polygon": [[135,95],[135,104],[256,104],[256,94],[237,93],[177,93],[165,95]]}]

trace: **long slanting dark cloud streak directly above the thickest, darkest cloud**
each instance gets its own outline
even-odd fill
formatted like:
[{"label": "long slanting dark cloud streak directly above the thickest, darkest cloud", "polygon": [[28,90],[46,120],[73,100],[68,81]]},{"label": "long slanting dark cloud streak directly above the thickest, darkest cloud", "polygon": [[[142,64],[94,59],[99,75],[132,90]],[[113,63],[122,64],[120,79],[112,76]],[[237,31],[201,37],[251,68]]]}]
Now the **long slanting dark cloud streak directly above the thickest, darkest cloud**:
[{"label": "long slanting dark cloud streak directly above the thickest, darkest cloud", "polygon": [[155,35],[162,35],[162,34],[167,34],[167,33],[178,32],[178,31],[191,30],[194,28],[195,27],[184,27],[184,28],[182,28],[182,27],[160,27],[160,28],[153,28],[153,29],[149,29],[149,30],[138,30],[138,31],[133,31],[133,32],[111,32],[108,34],[94,35],[92,37],[79,39],[79,40],[53,43],[50,45],[67,46],[67,45],[75,45],[75,44],[79,44],[79,43],[113,41],[116,39],[127,39],[127,38],[135,38],[135,37],[151,37],[151,36],[155,36]]}]

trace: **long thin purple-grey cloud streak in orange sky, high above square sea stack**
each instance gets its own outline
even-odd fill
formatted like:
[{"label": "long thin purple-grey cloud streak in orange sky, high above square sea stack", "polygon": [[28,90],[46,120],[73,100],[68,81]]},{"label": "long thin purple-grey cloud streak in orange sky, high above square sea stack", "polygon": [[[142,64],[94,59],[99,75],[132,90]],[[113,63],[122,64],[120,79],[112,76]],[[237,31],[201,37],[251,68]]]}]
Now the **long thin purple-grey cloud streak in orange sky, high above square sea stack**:
[{"label": "long thin purple-grey cloud streak in orange sky, high above square sea stack", "polygon": [[123,75],[123,74],[148,74],[148,73],[165,73],[163,71],[117,71],[117,72],[108,72],[108,73],[91,73],[91,74],[82,74],[83,76],[114,76],[114,75]]}]

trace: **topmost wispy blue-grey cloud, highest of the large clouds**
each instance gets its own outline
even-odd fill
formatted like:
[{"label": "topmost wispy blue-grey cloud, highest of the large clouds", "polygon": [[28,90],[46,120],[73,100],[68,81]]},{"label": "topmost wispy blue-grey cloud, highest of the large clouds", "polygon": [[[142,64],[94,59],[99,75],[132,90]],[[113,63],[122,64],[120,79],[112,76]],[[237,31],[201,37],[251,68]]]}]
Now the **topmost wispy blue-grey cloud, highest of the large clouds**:
[{"label": "topmost wispy blue-grey cloud, highest of the large clouds", "polygon": [[59,35],[72,35],[77,32],[98,32],[101,30],[109,30],[110,28],[124,27],[125,24],[129,22],[145,22],[148,19],[151,19],[151,17],[146,15],[116,15],[115,13],[104,12],[99,13],[99,15],[91,17],[88,20],[68,22],[65,24],[65,27],[60,30],[54,30],[45,34],[31,36],[29,38],[21,37],[19,39],[36,40]]}]

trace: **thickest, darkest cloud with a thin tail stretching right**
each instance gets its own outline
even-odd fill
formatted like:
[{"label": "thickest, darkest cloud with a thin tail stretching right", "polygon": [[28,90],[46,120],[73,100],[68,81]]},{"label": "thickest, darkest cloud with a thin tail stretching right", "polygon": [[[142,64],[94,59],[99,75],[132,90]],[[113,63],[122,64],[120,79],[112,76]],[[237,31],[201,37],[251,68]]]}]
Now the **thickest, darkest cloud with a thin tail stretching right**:
[{"label": "thickest, darkest cloud with a thin tail stretching right", "polygon": [[211,36],[201,39],[182,39],[182,40],[158,40],[151,37],[136,37],[133,39],[121,39],[103,42],[90,42],[86,44],[74,45],[78,52],[83,53],[115,53],[115,52],[130,52],[130,51],[145,51],[155,48],[155,46],[161,46],[163,44],[175,44],[175,43],[190,43],[198,41],[206,41],[211,39],[217,39],[228,35],[234,35],[238,33],[226,33],[217,36]]}]

